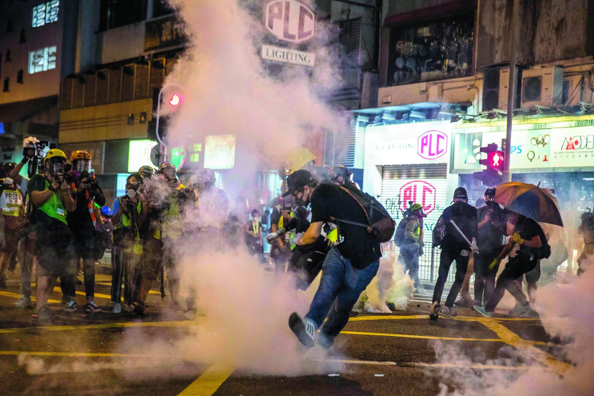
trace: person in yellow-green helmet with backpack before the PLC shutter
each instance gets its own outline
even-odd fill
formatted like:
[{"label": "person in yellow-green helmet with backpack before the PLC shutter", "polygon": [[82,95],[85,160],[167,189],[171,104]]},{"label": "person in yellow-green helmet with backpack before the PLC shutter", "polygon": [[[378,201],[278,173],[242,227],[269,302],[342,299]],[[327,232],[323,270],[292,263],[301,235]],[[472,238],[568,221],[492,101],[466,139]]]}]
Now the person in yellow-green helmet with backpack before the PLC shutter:
[{"label": "person in yellow-green helmet with backpack before the PLC shutter", "polygon": [[405,274],[408,272],[410,278],[415,281],[415,289],[421,287],[419,281],[419,255],[423,253],[423,213],[421,204],[410,205],[410,215],[400,220],[396,229],[394,243],[400,248],[398,259],[405,264]]}]

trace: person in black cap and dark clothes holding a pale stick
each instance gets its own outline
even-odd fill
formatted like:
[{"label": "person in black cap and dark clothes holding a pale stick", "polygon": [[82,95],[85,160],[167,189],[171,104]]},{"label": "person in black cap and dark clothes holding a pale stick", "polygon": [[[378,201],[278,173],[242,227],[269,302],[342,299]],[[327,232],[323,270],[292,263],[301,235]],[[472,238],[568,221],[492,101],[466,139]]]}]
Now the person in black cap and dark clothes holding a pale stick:
[{"label": "person in black cap and dark clothes holding a pale stick", "polygon": [[[463,187],[456,188],[454,191],[454,204],[445,208],[440,220],[438,220],[438,225],[440,223],[444,224],[445,233],[440,243],[440,269],[433,291],[431,313],[429,314],[429,319],[432,321],[437,320],[440,313],[450,316],[457,315],[452,307],[468,269],[469,254],[471,250],[478,251],[478,246],[476,246],[476,235],[478,234],[476,208],[469,205],[467,201],[466,189]],[[469,246],[465,237],[460,235],[460,232],[451,224],[451,221],[456,223],[456,226],[459,227],[467,240],[472,241],[472,245]],[[436,232],[438,232],[437,226],[434,229],[434,240]],[[454,260],[456,260],[456,278],[454,278],[454,284],[452,284],[450,293],[445,300],[445,305],[442,307],[441,294],[444,291],[445,281]]]}]

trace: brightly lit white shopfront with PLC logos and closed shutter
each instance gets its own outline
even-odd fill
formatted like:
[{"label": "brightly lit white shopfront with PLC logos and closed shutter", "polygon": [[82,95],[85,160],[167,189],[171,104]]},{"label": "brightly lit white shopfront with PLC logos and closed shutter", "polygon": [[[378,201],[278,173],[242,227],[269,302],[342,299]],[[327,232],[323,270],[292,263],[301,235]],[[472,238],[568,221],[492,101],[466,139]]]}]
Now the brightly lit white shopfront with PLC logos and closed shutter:
[{"label": "brightly lit white shopfront with PLC logos and closed shutter", "polygon": [[379,197],[396,221],[409,201],[421,204],[427,214],[425,251],[419,261],[422,280],[437,276],[439,252],[431,249],[431,232],[458,181],[448,169],[450,135],[451,123],[443,121],[371,125],[365,135],[363,190]]}]

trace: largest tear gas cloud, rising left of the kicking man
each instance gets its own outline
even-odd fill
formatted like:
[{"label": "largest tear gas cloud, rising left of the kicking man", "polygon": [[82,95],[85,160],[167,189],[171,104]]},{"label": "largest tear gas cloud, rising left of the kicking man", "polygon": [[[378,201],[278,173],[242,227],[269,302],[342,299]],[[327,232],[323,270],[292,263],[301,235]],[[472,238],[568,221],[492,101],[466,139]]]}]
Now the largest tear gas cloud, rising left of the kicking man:
[{"label": "largest tear gas cloud, rising left of the kicking man", "polygon": [[[340,128],[342,118],[320,99],[340,84],[337,68],[331,67],[336,61],[327,46],[332,37],[327,27],[318,26],[317,41],[309,49],[316,53],[314,69],[292,67],[270,77],[258,56],[263,27],[246,11],[249,2],[171,4],[184,21],[190,44],[168,78],[185,90],[168,141],[189,145],[206,135],[235,135],[235,167],[225,180],[229,197],[253,192],[257,170],[276,169],[287,151],[320,138],[323,128]],[[187,229],[216,226],[215,212],[200,210],[200,219],[189,214]],[[247,220],[240,219],[238,227]],[[242,241],[232,248],[223,246],[223,239],[219,230],[208,229],[175,241],[180,302],[190,287],[196,289],[199,318],[189,328],[191,335],[169,349],[191,362],[216,362],[253,373],[311,372],[302,365],[303,351],[287,326],[289,313],[307,311],[311,298],[293,290],[289,278],[274,284]],[[137,346],[137,339],[125,338],[126,349]],[[159,353],[160,348],[158,342],[143,340],[143,353]]]}]

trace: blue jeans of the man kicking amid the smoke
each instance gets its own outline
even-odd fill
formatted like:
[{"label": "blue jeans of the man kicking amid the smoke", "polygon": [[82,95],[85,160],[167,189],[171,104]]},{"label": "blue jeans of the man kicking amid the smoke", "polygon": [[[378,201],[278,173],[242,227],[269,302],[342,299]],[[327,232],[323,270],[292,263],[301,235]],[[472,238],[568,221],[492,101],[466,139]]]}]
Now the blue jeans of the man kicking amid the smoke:
[{"label": "blue jeans of the man kicking amid the smoke", "polygon": [[328,321],[320,330],[320,346],[326,349],[332,346],[334,338],[349,321],[350,310],[353,309],[361,292],[375,277],[379,267],[380,260],[377,260],[362,270],[357,270],[336,247],[330,249],[322,265],[320,286],[309,306],[309,312],[305,315],[314,321],[318,328],[328,315]]}]

